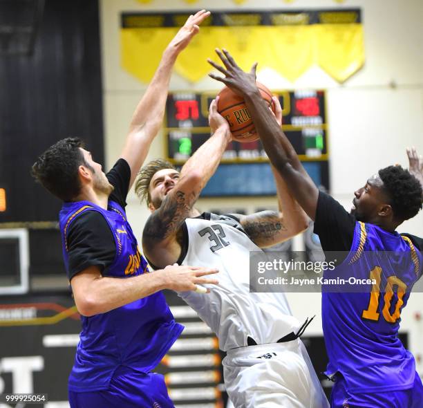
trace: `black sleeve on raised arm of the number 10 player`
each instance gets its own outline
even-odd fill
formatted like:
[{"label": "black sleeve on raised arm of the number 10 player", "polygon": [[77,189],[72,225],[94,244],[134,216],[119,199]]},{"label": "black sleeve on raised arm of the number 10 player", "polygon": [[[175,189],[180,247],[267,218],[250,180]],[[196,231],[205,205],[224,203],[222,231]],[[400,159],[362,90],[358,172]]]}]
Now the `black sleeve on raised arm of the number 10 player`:
[{"label": "black sleeve on raised arm of the number 10 player", "polygon": [[323,251],[350,251],[353,245],[355,217],[335,198],[319,192],[314,234],[319,235]]}]

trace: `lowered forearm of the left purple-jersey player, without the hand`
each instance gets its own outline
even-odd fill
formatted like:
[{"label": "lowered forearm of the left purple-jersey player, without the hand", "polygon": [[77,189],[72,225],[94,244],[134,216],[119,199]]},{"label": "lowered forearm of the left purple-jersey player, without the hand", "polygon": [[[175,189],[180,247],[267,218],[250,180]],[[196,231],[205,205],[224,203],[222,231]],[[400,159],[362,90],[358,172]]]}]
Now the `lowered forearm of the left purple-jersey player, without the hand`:
[{"label": "lowered forearm of the left purple-jersey player, without the hand", "polygon": [[93,316],[153,295],[165,286],[158,271],[126,279],[98,277],[89,282],[83,298],[75,298],[75,302],[79,313]]}]

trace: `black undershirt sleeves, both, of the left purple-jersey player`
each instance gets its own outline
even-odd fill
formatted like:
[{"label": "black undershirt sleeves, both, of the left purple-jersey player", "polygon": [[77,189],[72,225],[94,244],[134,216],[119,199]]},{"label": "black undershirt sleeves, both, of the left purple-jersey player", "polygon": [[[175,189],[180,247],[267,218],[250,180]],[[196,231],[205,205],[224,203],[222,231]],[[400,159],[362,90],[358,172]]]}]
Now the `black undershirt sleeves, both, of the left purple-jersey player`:
[{"label": "black undershirt sleeves, both, of the left purple-jersey player", "polygon": [[[109,201],[126,207],[131,169],[126,160],[120,158],[106,174],[115,187]],[[104,216],[97,211],[86,211],[73,221],[68,230],[68,279],[89,266],[98,266],[100,272],[115,259],[116,248],[113,234]]]}]

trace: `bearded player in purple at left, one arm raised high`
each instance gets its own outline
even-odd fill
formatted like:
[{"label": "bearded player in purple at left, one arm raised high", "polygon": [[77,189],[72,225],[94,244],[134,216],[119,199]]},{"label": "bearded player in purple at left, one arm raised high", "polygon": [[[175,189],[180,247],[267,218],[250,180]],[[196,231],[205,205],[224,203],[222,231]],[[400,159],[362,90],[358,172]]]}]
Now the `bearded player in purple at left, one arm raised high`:
[{"label": "bearded player in purple at left, one arm raised high", "polygon": [[[126,219],[126,195],[163,119],[173,64],[209,12],[187,19],[164,50],[135,109],[124,149],[104,174],[81,140],[59,140],[32,174],[64,201],[59,214],[63,254],[82,332],[69,376],[72,408],[171,408],[162,375],[152,373],[183,327],[160,290],[196,290],[209,268],[170,266],[148,273]],[[48,248],[46,248],[48,250]]]}]

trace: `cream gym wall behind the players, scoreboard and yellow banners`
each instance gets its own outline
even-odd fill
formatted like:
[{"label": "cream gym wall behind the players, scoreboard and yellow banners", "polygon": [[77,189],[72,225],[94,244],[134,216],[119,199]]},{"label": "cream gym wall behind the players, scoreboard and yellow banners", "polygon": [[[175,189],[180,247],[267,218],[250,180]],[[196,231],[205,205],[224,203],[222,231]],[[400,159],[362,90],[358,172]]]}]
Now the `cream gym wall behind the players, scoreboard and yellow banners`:
[{"label": "cream gym wall behind the players, scoreboard and yellow banners", "polygon": [[[393,163],[407,164],[405,148],[415,146],[423,152],[423,3],[420,0],[247,0],[236,6],[232,0],[197,1],[153,0],[142,4],[135,0],[101,0],[102,69],[104,78],[104,132],[106,168],[113,165],[122,149],[133,109],[147,84],[124,71],[120,64],[120,13],[169,10],[301,10],[302,8],[361,8],[364,24],[366,62],[353,77],[338,84],[315,67],[297,82],[290,83],[273,71],[262,71],[258,79],[273,89],[326,89],[331,194],[349,210],[355,189],[379,168]],[[200,33],[201,35],[201,33]],[[213,50],[210,50],[210,55]],[[146,56],[148,58],[148,56]],[[253,61],[252,61],[253,62]],[[250,68],[245,66],[243,68]],[[173,75],[171,91],[204,91],[220,89],[220,84],[205,77],[195,84]],[[154,140],[147,160],[164,155],[164,138]],[[133,230],[140,238],[149,216],[131,193],[127,212]],[[267,198],[202,198],[200,210],[221,208],[276,207],[276,199]],[[423,213],[400,228],[400,232],[422,235]],[[294,239],[294,249],[303,249],[303,239]],[[288,294],[292,312],[299,318],[317,314],[308,328],[309,335],[321,335],[319,294]],[[419,341],[423,324],[415,313],[423,301],[415,294],[402,313],[402,331],[408,331],[411,351],[423,355]],[[423,374],[422,362],[417,369]]]}]

